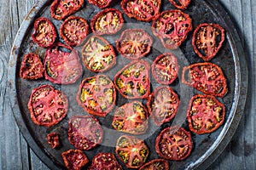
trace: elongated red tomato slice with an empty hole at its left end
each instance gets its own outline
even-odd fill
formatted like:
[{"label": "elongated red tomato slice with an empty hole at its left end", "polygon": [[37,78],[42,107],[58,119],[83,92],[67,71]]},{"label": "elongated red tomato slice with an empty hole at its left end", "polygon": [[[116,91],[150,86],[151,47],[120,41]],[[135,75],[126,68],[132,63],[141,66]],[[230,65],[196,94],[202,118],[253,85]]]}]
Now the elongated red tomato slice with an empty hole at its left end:
[{"label": "elongated red tomato slice with an empty hole at its left end", "polygon": [[228,92],[227,80],[218,65],[197,63],[183,68],[182,82],[213,96],[224,97]]}]

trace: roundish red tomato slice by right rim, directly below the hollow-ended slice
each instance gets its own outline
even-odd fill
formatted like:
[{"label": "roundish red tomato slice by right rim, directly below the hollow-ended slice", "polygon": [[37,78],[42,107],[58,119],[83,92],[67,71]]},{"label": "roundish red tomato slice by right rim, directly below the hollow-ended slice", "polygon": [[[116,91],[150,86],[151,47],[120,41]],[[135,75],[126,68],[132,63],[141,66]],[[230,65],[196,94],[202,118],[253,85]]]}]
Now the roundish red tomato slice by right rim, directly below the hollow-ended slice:
[{"label": "roundish red tomato slice by right rim, directly below the hollow-ended slice", "polygon": [[195,95],[189,103],[188,121],[192,132],[212,133],[224,123],[225,106],[211,95]]}]

